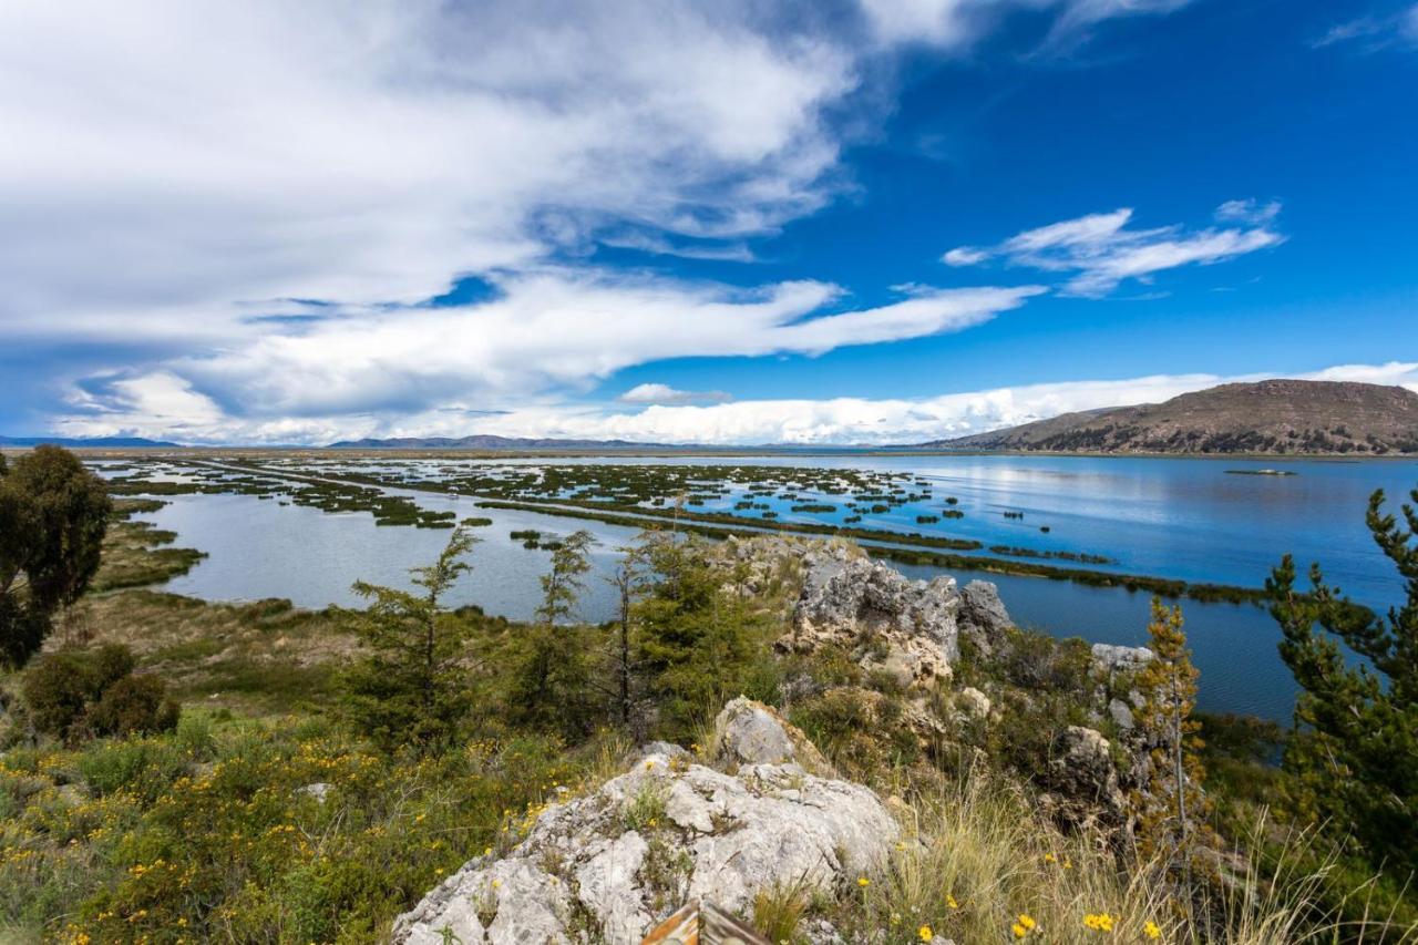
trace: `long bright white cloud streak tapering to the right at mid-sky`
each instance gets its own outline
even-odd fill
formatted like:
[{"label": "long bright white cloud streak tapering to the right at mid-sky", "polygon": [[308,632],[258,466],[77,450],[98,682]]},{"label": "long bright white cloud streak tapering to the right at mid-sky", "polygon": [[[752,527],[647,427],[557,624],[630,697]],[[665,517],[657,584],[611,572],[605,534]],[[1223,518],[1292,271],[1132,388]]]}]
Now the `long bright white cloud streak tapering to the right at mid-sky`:
[{"label": "long bright white cloud streak tapering to the right at mid-sky", "polygon": [[413,411],[586,387],[668,358],[818,355],[961,331],[1042,291],[917,287],[888,305],[821,314],[842,289],[804,281],[746,292],[584,270],[502,277],[498,288],[475,305],[342,311],[162,370],[257,417]]}]

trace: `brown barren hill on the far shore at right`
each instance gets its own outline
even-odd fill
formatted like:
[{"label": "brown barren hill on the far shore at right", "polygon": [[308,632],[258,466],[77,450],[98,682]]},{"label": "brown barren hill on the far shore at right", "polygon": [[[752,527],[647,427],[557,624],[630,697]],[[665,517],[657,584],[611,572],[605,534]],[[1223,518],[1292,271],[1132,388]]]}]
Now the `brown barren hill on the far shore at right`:
[{"label": "brown barren hill on the far shore at right", "polygon": [[1221,385],[1164,403],[1065,413],[922,444],[1044,453],[1415,454],[1418,393],[1330,380]]}]

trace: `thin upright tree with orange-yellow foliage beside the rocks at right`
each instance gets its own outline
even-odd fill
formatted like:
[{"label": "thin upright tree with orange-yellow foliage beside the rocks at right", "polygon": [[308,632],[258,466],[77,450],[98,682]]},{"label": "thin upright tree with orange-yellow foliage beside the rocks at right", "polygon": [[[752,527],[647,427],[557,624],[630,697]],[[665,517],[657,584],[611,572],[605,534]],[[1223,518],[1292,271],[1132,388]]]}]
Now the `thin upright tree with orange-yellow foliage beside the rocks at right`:
[{"label": "thin upright tree with orange-yellow foliage beside the rocks at right", "polygon": [[1181,607],[1167,607],[1153,597],[1153,658],[1137,673],[1143,705],[1137,725],[1150,745],[1150,776],[1133,797],[1137,812],[1137,844],[1143,857],[1163,857],[1181,868],[1190,884],[1191,860],[1207,812],[1201,782],[1205,772],[1197,752],[1202,748],[1191,719],[1197,704],[1197,668],[1181,630]]}]

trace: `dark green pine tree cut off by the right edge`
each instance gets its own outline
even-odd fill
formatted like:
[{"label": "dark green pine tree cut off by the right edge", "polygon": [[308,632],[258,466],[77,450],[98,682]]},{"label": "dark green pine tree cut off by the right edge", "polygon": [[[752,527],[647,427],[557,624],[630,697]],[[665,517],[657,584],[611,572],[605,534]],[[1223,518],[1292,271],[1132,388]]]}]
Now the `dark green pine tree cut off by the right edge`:
[{"label": "dark green pine tree cut off by the right edge", "polygon": [[[1418,504],[1418,490],[1409,498]],[[1383,508],[1378,490],[1366,522],[1405,592],[1387,616],[1324,583],[1319,565],[1296,590],[1290,555],[1266,590],[1280,658],[1300,685],[1283,758],[1296,812],[1407,874],[1418,870],[1418,512],[1402,505],[1404,528]]]}]

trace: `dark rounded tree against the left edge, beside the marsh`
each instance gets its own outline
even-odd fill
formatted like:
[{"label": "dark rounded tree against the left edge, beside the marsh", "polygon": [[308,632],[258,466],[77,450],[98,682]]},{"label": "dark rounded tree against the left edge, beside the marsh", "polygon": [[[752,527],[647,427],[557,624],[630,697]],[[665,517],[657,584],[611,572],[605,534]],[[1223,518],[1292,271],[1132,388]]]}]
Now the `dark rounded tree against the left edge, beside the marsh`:
[{"label": "dark rounded tree against the left edge, beside the marsh", "polygon": [[40,446],[0,470],[0,661],[21,665],[51,614],[98,570],[111,502],[69,453]]}]

